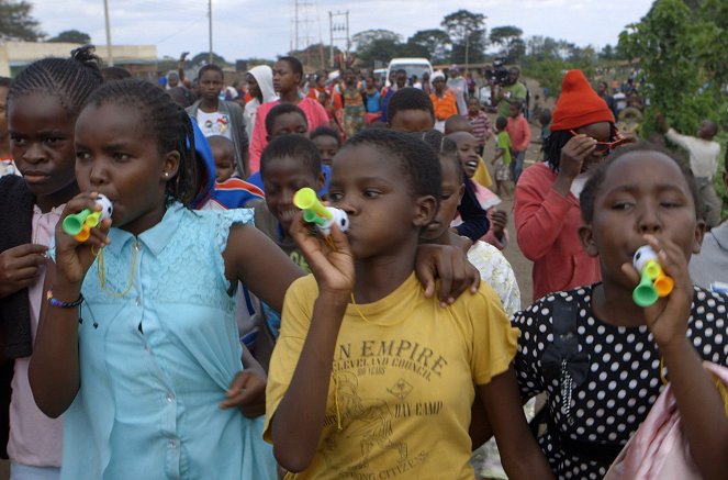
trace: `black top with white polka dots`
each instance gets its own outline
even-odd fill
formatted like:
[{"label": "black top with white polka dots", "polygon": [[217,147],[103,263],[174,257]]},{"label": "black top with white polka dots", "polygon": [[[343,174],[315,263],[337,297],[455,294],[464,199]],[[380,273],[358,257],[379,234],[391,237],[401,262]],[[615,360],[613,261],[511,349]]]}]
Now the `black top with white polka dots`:
[{"label": "black top with white polka dots", "polygon": [[[547,295],[513,319],[520,330],[515,359],[520,395],[528,399],[547,392],[549,431],[539,444],[562,479],[604,477],[662,390],[660,353],[648,327],[613,326],[596,319],[592,289]],[[553,341],[556,295],[578,305],[579,347],[589,355],[589,373],[571,391],[568,417],[561,382],[559,378],[547,381],[540,362]],[[727,295],[695,287],[687,336],[704,360],[723,366],[728,366],[727,309]]]}]

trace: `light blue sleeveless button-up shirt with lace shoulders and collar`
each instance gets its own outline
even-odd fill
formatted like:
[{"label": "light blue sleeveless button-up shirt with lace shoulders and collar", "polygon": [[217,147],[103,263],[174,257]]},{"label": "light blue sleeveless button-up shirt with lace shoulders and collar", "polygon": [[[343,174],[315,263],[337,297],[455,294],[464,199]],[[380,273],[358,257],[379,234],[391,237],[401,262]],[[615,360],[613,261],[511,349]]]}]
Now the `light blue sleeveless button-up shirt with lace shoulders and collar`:
[{"label": "light blue sleeveless button-up shirt with lace shoulders and collar", "polygon": [[63,479],[276,478],[262,417],[219,406],[243,369],[222,253],[251,219],[177,203],[138,237],[110,231],[82,287]]}]

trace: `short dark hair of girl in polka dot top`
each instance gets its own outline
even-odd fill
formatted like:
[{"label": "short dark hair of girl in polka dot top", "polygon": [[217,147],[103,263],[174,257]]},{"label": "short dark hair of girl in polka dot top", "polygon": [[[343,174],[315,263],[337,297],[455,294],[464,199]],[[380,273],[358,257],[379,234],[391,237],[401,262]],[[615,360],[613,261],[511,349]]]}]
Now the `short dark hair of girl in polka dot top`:
[{"label": "short dark hair of girl in polka dot top", "polygon": [[604,182],[604,178],[606,177],[609,167],[612,167],[616,160],[624,157],[625,155],[635,153],[661,154],[673,160],[677,167],[680,167],[680,171],[683,174],[683,177],[685,177],[685,181],[687,182],[687,188],[690,189],[690,193],[693,197],[693,203],[695,204],[695,216],[698,220],[703,219],[703,202],[701,200],[701,196],[697,192],[697,183],[695,182],[695,176],[693,175],[693,171],[690,169],[690,165],[663,146],[640,141],[636,144],[627,145],[614,150],[602,163],[600,163],[596,168],[594,168],[592,176],[589,178],[589,180],[586,180],[586,183],[584,185],[584,188],[579,196],[581,216],[585,223],[592,223],[592,220],[594,219],[594,203],[596,201],[596,194],[598,193],[598,190]]}]

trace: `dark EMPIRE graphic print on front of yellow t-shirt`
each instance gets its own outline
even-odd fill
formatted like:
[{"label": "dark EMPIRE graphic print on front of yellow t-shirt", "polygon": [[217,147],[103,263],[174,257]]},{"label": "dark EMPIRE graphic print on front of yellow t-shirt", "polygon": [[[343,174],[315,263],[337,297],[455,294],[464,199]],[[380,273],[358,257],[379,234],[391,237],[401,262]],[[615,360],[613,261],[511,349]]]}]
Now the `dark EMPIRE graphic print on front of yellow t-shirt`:
[{"label": "dark EMPIRE graphic print on front of yellow t-shirt", "polygon": [[[397,427],[404,420],[424,420],[445,411],[433,383],[445,375],[448,360],[436,349],[404,338],[362,339],[339,344],[337,350],[332,384],[338,415],[327,412],[325,425],[333,428],[321,450],[327,467],[338,478],[412,476],[430,451],[411,451]],[[366,383],[367,395],[360,383]],[[415,400],[410,398],[413,392]],[[338,458],[341,445],[358,450],[360,461],[352,465]],[[370,468],[370,462],[377,468]]]}]

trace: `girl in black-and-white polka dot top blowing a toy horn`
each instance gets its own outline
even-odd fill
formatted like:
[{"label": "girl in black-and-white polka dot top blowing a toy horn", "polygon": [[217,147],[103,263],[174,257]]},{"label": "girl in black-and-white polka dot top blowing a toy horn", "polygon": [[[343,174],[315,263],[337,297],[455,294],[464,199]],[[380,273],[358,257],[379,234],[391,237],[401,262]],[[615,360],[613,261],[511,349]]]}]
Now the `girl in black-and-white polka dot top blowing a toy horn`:
[{"label": "girl in black-and-white polka dot top blowing a toy horn", "polygon": [[[669,153],[638,144],[596,168],[580,203],[579,234],[587,254],[598,256],[603,281],[548,294],[513,320],[520,328],[522,397],[548,399],[544,453],[559,478],[601,479],[649,413],[664,376],[702,476],[725,478],[728,417],[702,361],[728,366],[728,297],[690,279],[687,263],[704,233],[692,176]],[[648,308],[632,301],[639,275],[631,258],[642,245],[658,252],[675,282]],[[574,317],[576,343],[549,370],[558,299]]]}]

